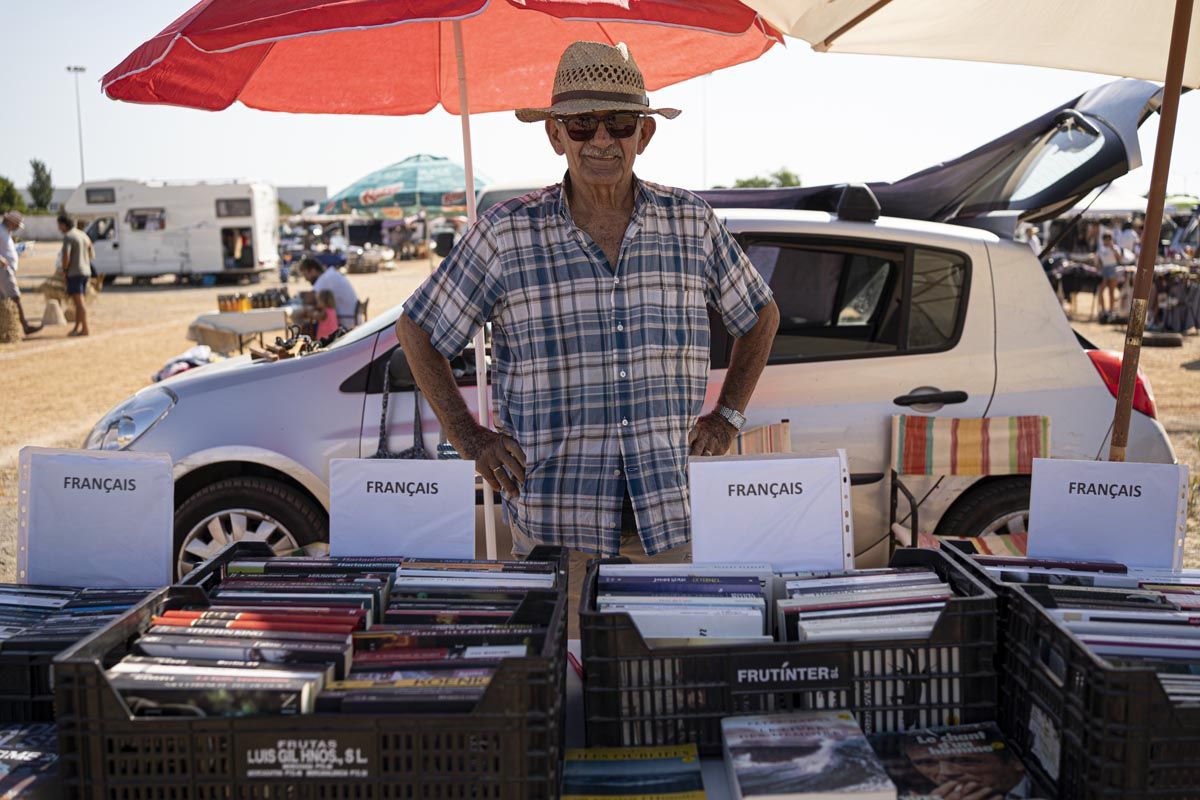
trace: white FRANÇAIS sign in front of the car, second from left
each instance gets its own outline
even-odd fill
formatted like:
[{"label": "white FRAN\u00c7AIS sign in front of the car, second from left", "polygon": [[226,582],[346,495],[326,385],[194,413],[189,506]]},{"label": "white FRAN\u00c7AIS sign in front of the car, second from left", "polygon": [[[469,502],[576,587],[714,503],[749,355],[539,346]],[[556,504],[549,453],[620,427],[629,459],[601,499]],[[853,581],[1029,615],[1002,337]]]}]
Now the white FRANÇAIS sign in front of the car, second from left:
[{"label": "white FRAN\u00c7AIS sign in front of the car, second from left", "polygon": [[475,558],[475,462],[329,462],[330,555]]}]

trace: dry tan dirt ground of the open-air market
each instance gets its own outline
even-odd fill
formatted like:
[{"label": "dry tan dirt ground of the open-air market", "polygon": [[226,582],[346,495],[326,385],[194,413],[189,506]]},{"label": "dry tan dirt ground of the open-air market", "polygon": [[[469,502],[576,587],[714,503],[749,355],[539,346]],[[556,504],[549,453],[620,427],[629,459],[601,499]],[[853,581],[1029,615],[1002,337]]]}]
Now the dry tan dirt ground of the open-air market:
[{"label": "dry tan dirt ground of the open-air market", "polygon": [[[22,260],[18,281],[25,313],[41,319],[44,302],[34,289],[50,273],[55,247],[41,243]],[[402,302],[428,273],[428,261],[401,263],[394,271],[352,275],[373,314]],[[217,309],[217,295],[280,285],[271,277],[257,287],[176,287],[169,279],[104,289],[90,306],[91,336],[68,338],[70,325],[46,329],[18,344],[0,344],[0,581],[16,573],[17,453],[25,445],[79,446],[109,408],[150,383],[168,359],[191,348],[187,326]],[[290,284],[293,291],[300,284]],[[307,284],[305,284],[306,287]],[[1120,349],[1123,329],[1097,323],[1075,327],[1100,347]],[[1187,565],[1200,566],[1200,336],[1183,348],[1147,348],[1142,368],[1182,463],[1190,467],[1193,501]]]}]

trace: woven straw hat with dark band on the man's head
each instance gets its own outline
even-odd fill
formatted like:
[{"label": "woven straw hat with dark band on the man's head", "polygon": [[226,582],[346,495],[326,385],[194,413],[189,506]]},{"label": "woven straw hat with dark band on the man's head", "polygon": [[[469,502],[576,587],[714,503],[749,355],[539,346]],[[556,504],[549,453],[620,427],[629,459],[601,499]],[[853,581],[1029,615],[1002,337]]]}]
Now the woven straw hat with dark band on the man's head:
[{"label": "woven straw hat with dark band on the man's head", "polygon": [[590,112],[642,112],[673,120],[678,108],[650,108],[642,71],[624,42],[575,42],[563,50],[550,108],[520,108],[522,122]]}]

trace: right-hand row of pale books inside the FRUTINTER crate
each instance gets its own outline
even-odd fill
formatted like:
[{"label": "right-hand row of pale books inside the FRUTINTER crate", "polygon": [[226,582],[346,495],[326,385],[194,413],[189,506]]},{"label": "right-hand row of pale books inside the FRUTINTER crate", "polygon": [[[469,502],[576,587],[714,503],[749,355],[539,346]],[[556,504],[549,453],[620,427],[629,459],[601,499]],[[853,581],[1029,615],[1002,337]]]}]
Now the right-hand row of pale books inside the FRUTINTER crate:
[{"label": "right-hand row of pale books inside the FRUTINTER crate", "polygon": [[775,603],[784,642],[923,638],[954,596],[924,567],[793,576],[784,587]]}]

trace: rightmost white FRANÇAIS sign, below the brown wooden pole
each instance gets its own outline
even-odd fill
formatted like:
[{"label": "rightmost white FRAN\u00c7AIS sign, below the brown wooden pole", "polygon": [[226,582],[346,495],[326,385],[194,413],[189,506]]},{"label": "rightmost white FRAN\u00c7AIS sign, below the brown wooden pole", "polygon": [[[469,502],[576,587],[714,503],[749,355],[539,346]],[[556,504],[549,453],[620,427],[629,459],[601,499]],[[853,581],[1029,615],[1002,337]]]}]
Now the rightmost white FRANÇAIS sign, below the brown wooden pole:
[{"label": "rightmost white FRAN\u00c7AIS sign, below the brown wooden pole", "polygon": [[1033,459],[1030,557],[1177,570],[1187,518],[1182,464]]}]

